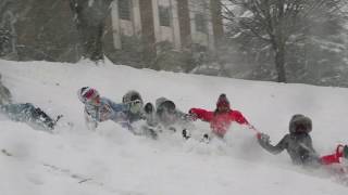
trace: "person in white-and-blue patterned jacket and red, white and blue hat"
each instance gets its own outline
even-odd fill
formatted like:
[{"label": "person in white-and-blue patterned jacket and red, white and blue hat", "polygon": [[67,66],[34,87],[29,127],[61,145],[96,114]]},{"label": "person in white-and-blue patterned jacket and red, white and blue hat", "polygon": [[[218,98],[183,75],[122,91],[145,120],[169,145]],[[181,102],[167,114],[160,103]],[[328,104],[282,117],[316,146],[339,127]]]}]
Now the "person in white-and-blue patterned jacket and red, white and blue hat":
[{"label": "person in white-and-blue patterned jacket and red, white and blue hat", "polygon": [[107,98],[100,98],[96,89],[84,87],[77,91],[77,96],[85,104],[85,119],[87,128],[95,130],[98,122],[113,120],[132,130],[128,118],[125,114],[127,106],[116,104]]}]

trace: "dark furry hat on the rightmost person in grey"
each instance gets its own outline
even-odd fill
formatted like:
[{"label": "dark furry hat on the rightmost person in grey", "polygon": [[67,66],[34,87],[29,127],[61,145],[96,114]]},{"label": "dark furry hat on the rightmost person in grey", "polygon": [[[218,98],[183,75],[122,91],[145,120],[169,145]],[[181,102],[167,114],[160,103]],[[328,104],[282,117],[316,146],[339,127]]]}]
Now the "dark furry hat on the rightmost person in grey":
[{"label": "dark furry hat on the rightmost person in grey", "polygon": [[312,131],[312,120],[304,115],[294,115],[289,122],[289,131],[290,133],[309,133]]}]

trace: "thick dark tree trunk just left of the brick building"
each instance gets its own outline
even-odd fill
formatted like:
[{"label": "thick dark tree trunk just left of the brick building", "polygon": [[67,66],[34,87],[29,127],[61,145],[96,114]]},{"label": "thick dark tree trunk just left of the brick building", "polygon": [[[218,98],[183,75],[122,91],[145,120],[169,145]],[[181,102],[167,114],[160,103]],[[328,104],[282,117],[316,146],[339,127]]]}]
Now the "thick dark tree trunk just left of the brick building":
[{"label": "thick dark tree trunk just left of the brick building", "polygon": [[112,1],[70,0],[85,58],[94,62],[103,60],[102,36]]}]

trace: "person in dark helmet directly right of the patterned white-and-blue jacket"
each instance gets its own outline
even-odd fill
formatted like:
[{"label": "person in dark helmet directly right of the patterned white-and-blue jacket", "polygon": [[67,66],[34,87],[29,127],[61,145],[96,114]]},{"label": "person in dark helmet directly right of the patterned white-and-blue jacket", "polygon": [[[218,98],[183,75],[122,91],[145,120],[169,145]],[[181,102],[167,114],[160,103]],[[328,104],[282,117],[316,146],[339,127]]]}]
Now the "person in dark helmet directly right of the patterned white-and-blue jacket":
[{"label": "person in dark helmet directly right of the patterned white-and-blue jacket", "polygon": [[142,110],[144,101],[139,92],[134,90],[128,91],[126,94],[123,95],[122,102],[127,106],[125,114],[127,115],[127,118],[130,123],[134,121],[145,119]]}]

